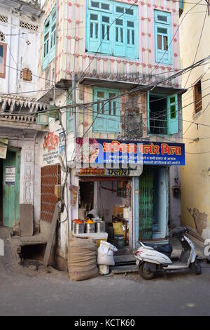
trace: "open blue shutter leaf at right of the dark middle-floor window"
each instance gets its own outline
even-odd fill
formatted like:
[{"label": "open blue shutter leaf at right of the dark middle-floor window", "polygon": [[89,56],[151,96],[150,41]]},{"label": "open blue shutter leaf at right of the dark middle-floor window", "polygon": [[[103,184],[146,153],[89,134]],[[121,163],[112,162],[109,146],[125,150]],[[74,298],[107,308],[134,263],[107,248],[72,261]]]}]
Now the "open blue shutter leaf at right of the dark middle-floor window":
[{"label": "open blue shutter leaf at right of the dark middle-floor window", "polygon": [[177,94],[170,95],[167,98],[167,124],[168,134],[176,134],[179,130],[179,107]]}]

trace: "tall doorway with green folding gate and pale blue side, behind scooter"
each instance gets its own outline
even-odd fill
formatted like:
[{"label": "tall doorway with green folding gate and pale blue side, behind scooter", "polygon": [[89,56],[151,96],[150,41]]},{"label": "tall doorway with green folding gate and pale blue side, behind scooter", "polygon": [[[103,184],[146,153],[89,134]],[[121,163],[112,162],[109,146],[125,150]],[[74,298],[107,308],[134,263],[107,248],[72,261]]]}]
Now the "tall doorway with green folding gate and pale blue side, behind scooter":
[{"label": "tall doorway with green folding gate and pale blue side, behind scooter", "polygon": [[164,239],[167,223],[167,168],[144,166],[139,178],[139,239]]}]

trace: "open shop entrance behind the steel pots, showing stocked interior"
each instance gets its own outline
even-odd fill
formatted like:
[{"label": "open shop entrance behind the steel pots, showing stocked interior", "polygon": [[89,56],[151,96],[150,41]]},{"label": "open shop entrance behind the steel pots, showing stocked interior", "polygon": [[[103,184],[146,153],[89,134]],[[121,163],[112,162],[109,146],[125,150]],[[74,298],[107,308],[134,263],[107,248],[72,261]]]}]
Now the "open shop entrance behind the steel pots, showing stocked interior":
[{"label": "open shop entrance behind the steel pots, showing stocked interior", "polygon": [[[80,220],[94,213],[104,220],[107,240],[118,247],[119,254],[129,253],[132,247],[132,178],[80,178]],[[97,227],[97,226],[96,226]],[[131,239],[130,239],[131,237]]]}]

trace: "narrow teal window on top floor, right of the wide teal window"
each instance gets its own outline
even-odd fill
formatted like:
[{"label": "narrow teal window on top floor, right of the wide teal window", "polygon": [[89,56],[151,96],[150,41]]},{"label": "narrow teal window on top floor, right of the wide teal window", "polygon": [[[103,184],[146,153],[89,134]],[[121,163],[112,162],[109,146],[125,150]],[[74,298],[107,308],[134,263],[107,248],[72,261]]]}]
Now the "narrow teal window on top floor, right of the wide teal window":
[{"label": "narrow teal window on top floor, right of the wide teal window", "polygon": [[155,62],[172,64],[171,39],[171,14],[165,11],[155,11]]}]

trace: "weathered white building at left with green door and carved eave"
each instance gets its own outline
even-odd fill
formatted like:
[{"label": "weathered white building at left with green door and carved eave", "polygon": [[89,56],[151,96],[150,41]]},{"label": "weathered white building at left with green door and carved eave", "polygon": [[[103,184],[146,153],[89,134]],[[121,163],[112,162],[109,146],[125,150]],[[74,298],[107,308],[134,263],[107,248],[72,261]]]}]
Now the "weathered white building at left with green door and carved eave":
[{"label": "weathered white building at left with green door and carved eave", "polygon": [[40,216],[38,135],[46,130],[36,116],[46,106],[34,92],[42,13],[32,1],[0,1],[0,222],[13,227],[20,204],[31,204],[34,232]]}]

